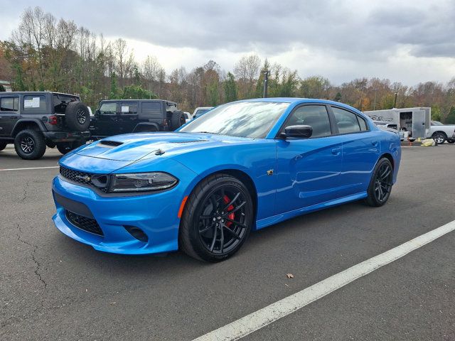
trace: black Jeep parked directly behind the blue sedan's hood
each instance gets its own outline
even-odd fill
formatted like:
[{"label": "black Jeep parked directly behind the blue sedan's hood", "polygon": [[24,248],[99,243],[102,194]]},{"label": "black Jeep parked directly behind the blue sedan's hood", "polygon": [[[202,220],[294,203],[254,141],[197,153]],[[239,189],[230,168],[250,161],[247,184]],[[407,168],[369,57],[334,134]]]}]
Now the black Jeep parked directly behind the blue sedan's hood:
[{"label": "black Jeep parked directly behind the blue sedan's hood", "polygon": [[109,99],[98,105],[91,139],[144,131],[173,131],[185,124],[177,104],[163,99]]}]

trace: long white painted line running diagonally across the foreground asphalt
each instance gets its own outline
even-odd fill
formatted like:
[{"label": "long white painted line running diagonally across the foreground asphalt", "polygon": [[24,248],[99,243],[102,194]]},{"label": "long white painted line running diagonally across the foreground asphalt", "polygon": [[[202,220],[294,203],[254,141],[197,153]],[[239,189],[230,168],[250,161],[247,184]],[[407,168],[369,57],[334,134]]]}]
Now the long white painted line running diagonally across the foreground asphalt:
[{"label": "long white painted line running diagonally across the foreground asphalt", "polygon": [[419,247],[423,247],[425,244],[433,242],[434,239],[437,239],[454,230],[455,220],[430,232],[422,234],[409,242],[405,242],[405,244],[401,244],[398,247],[385,251],[378,256],[374,256],[373,258],[352,266],[349,269],[341,271],[336,275],[328,277],[323,281],[310,286],[309,288],[299,291],[298,293],[294,293],[294,295],[288,296],[287,298],[283,298],[281,301],[267,305],[267,307],[259,309],[250,315],[246,315],[229,325],[213,330],[213,332],[208,332],[208,334],[198,337],[193,341],[239,340],[255,330],[259,330],[279,318],[283,318],[286,315],[294,313],[294,311],[303,308],[311,302],[319,300],[319,298],[328,295],[328,293],[336,291],[336,289],[346,286],[346,284],[355,281],[355,279],[370,274],[370,272],[379,269],[381,266],[385,266],[392,261],[400,259],[402,256],[409,254],[411,251],[419,249]]}]

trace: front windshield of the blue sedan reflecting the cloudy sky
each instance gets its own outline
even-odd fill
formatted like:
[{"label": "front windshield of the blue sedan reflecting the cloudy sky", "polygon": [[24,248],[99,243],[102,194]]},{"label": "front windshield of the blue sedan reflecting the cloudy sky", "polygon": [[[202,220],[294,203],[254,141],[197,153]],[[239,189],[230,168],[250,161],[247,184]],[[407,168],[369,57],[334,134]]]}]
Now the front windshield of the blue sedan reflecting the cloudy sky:
[{"label": "front windshield of the blue sedan reflecting the cloudy sky", "polygon": [[220,105],[180,131],[264,138],[289,107],[283,102],[234,102]]}]

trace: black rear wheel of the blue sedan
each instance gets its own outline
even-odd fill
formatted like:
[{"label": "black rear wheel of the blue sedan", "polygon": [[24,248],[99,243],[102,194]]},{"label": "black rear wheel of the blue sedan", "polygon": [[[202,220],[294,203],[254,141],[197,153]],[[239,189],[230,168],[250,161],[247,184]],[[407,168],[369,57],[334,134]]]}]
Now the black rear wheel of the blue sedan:
[{"label": "black rear wheel of the blue sedan", "polygon": [[[386,173],[388,171],[388,173]],[[368,197],[365,203],[372,207],[380,207],[387,202],[392,191],[393,167],[388,158],[381,158],[376,163],[368,185]],[[378,183],[379,181],[379,183]],[[386,193],[384,193],[386,191]]]}]

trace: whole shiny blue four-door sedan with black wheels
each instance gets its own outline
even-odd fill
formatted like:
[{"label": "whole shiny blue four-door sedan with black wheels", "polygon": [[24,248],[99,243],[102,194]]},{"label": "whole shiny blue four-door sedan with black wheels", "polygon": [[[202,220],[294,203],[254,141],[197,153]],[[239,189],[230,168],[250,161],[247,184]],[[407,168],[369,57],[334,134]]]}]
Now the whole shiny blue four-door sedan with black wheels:
[{"label": "whole shiny blue four-door sedan with black wheels", "polygon": [[100,251],[221,261],[252,229],[354,200],[384,205],[400,156],[399,136],[338,102],[232,102],[175,132],[111,136],[67,154],[53,221]]}]

